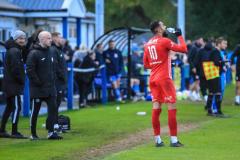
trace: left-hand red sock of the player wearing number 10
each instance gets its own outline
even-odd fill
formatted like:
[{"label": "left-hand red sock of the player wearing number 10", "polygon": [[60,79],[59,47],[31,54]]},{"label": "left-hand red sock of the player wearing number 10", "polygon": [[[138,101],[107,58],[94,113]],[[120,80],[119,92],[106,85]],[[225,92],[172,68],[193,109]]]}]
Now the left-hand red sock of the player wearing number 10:
[{"label": "left-hand red sock of the player wearing number 10", "polygon": [[160,135],[160,121],[159,115],[161,114],[162,109],[152,109],[152,127],[154,131],[154,135]]}]

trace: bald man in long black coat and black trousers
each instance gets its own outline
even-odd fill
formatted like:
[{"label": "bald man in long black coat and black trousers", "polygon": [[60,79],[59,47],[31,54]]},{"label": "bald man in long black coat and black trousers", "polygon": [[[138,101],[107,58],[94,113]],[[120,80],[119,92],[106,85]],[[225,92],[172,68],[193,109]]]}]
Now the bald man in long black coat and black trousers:
[{"label": "bald man in long black coat and black trousers", "polygon": [[42,101],[48,106],[48,117],[46,128],[48,129],[48,139],[62,139],[54,132],[56,122],[56,88],[55,88],[55,50],[51,48],[52,36],[47,31],[42,31],[38,35],[39,43],[33,45],[27,57],[27,74],[30,80],[30,96],[32,102],[31,113],[31,139],[37,140],[36,133],[37,117]]}]

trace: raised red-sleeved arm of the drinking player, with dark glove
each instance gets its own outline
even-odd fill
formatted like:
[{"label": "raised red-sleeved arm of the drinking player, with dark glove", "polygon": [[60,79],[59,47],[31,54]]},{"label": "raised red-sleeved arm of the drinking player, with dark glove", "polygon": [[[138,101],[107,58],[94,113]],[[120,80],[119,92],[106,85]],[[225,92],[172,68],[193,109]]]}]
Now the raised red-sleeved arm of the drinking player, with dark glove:
[{"label": "raised red-sleeved arm of the drinking player, with dark glove", "polygon": [[174,43],[173,41],[169,40],[167,43],[167,48],[169,50],[172,50],[175,52],[187,53],[187,45],[182,37],[181,29],[176,29],[175,35],[177,36],[177,38],[179,40],[179,44]]}]

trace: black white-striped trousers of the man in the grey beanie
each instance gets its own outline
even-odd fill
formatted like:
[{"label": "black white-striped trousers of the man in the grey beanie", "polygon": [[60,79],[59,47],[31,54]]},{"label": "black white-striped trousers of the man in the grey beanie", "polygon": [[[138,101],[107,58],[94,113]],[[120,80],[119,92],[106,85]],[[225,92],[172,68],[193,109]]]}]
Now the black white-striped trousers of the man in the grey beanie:
[{"label": "black white-striped trousers of the man in the grey beanie", "polygon": [[12,134],[18,131],[19,114],[22,108],[21,95],[7,97],[7,105],[3,112],[0,131],[5,131],[7,121],[12,114]]}]

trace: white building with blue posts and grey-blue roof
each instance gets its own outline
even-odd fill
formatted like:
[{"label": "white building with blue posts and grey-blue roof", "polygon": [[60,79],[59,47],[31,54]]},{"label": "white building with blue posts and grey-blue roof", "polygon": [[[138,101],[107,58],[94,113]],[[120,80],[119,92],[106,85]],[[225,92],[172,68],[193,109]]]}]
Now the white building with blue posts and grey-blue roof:
[{"label": "white building with blue posts and grey-blue roof", "polygon": [[95,41],[95,14],[87,12],[83,0],[0,0],[0,41],[16,29],[30,36],[38,28],[61,33],[72,47],[90,48]]}]

